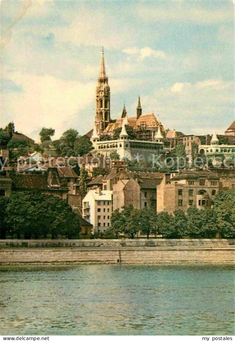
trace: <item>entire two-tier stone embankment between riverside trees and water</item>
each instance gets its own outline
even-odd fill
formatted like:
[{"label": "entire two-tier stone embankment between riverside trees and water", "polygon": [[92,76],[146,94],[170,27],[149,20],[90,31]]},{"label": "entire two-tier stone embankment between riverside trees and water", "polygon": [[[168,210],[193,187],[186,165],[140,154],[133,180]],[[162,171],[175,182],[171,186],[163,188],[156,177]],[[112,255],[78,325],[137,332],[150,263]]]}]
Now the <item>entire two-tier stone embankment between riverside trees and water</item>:
[{"label": "entire two-tier stone embankment between riverside trees and water", "polygon": [[232,263],[234,239],[0,240],[0,264]]}]

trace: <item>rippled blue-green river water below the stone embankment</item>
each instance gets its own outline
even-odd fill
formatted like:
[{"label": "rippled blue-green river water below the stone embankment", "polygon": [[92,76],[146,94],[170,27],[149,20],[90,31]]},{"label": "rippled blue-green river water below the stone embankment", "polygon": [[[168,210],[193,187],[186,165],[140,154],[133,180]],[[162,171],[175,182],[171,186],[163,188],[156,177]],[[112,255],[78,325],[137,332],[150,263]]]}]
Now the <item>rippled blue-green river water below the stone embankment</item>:
[{"label": "rippled blue-green river water below the stone embankment", "polygon": [[233,335],[232,265],[2,266],[2,335]]}]

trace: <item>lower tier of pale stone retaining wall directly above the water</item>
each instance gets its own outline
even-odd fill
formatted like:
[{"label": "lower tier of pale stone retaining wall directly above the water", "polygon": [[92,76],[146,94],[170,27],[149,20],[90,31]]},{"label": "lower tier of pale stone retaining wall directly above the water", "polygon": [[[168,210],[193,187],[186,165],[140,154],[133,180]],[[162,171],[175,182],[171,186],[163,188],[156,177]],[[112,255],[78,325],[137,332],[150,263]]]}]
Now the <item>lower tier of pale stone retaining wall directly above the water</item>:
[{"label": "lower tier of pale stone retaining wall directly above the water", "polygon": [[231,263],[234,248],[2,249],[1,264]]}]

